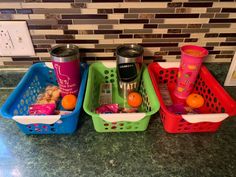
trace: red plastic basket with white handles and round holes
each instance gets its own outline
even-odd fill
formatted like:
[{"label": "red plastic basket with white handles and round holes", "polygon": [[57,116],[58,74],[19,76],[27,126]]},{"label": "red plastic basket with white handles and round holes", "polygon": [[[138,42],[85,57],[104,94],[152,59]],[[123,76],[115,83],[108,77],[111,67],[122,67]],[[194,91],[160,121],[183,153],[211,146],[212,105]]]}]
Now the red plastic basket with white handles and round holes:
[{"label": "red plastic basket with white handles and round holes", "polygon": [[157,62],[148,66],[148,71],[161,103],[160,115],[165,131],[169,133],[215,132],[222,121],[236,115],[236,102],[215,80],[203,65],[194,86],[194,93],[204,97],[205,104],[201,114],[177,115],[170,112],[164,104],[158,84],[166,83],[172,99],[175,89],[178,62]]}]

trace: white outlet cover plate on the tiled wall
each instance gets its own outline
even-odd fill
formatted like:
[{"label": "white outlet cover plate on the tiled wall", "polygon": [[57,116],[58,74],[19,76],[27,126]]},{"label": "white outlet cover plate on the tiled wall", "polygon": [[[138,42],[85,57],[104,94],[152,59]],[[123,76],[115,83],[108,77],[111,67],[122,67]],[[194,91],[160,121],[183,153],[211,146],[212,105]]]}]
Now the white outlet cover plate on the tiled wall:
[{"label": "white outlet cover plate on the tiled wall", "polygon": [[34,56],[26,21],[0,21],[0,56]]}]

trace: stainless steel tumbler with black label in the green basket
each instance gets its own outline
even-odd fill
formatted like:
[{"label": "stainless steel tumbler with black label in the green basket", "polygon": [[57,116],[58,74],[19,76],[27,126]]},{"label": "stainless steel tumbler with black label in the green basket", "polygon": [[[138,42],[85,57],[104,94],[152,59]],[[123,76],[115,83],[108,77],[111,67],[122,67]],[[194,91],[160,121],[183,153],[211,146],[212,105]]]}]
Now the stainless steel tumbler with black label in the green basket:
[{"label": "stainless steel tumbler with black label in the green basket", "polygon": [[116,63],[120,96],[138,91],[143,70],[143,47],[136,44],[118,46]]}]

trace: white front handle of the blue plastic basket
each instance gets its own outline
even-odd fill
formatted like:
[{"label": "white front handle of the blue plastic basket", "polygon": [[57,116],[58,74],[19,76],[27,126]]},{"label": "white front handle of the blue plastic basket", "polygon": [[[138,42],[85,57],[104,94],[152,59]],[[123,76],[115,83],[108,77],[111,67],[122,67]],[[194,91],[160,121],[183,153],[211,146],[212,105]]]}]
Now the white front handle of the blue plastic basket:
[{"label": "white front handle of the blue plastic basket", "polygon": [[13,119],[24,125],[29,124],[54,124],[61,118],[61,115],[50,116],[14,116]]}]

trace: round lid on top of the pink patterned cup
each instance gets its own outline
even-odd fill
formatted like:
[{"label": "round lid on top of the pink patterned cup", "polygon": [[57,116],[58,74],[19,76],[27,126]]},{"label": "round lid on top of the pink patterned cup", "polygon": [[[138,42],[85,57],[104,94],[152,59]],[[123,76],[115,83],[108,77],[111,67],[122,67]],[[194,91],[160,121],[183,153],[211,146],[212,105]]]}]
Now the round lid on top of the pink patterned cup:
[{"label": "round lid on top of the pink patterned cup", "polygon": [[196,45],[185,45],[180,50],[182,54],[197,58],[203,58],[208,55],[207,49]]}]

